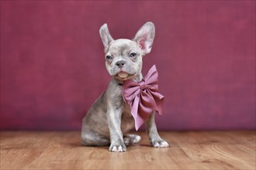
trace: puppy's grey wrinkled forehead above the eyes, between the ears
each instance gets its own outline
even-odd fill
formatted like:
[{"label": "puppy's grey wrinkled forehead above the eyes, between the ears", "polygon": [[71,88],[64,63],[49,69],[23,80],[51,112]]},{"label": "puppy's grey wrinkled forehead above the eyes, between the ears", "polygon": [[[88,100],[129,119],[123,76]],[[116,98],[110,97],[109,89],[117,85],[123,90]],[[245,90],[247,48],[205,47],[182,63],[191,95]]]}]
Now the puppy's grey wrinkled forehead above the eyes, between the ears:
[{"label": "puppy's grey wrinkled forehead above the eyes, between the ears", "polygon": [[137,42],[130,39],[116,39],[109,44],[109,48],[106,53],[111,52],[116,55],[123,55],[125,53],[131,53],[132,51],[140,53],[140,47]]}]

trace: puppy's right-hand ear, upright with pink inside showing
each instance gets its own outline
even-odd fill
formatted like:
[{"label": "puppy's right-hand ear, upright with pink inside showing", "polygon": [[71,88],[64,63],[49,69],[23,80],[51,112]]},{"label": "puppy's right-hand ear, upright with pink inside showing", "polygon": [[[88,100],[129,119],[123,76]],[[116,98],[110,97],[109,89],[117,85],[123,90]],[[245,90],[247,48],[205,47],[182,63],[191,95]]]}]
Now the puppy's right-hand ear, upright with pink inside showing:
[{"label": "puppy's right-hand ear, upright with pink inside showing", "polygon": [[134,37],[133,41],[137,42],[144,53],[150,53],[154,41],[154,24],[147,22],[142,26]]}]

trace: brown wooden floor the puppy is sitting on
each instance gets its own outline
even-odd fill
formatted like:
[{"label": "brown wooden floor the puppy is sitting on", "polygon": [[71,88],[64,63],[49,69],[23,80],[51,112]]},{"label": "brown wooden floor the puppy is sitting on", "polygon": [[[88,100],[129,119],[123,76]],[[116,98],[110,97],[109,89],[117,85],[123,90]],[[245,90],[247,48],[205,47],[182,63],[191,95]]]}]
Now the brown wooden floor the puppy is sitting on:
[{"label": "brown wooden floor the puppy is sitting on", "polygon": [[1,131],[0,169],[255,169],[255,131],[160,132],[170,148],[81,147],[79,131]]}]

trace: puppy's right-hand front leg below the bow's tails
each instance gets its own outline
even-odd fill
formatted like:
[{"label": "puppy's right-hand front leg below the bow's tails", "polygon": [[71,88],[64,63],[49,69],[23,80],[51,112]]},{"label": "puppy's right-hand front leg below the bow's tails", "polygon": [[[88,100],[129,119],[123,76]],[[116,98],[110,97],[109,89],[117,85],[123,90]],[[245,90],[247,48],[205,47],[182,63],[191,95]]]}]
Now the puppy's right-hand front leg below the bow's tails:
[{"label": "puppy's right-hand front leg below the bow's tails", "polygon": [[155,112],[153,111],[153,113],[147,120],[147,134],[149,137],[150,144],[157,148],[168,147],[168,143],[164,141],[157,132],[157,126],[154,121],[154,114]]}]

